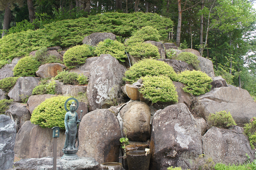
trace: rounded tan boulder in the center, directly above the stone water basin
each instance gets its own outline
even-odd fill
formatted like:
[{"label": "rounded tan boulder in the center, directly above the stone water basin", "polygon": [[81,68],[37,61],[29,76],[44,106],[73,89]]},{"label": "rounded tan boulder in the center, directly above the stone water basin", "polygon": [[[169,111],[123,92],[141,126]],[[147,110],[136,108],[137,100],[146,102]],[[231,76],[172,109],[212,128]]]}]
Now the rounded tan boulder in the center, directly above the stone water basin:
[{"label": "rounded tan boulder in the center, directly above the stone water basin", "polygon": [[150,139],[151,109],[147,104],[134,101],[125,105],[119,112],[123,121],[123,134],[126,133],[129,140],[144,142]]}]

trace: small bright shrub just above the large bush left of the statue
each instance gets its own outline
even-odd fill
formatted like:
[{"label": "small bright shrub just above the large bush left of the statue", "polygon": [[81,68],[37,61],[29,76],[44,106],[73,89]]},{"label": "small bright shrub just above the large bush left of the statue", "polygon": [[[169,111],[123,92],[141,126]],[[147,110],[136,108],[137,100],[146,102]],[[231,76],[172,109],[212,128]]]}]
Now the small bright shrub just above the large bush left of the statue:
[{"label": "small bright shrub just above the large bush left of the statue", "polygon": [[38,86],[36,86],[33,91],[32,91],[32,95],[44,95],[44,94],[50,94],[50,95],[54,95],[56,92],[56,83],[55,81],[50,81],[47,84],[39,84]]}]

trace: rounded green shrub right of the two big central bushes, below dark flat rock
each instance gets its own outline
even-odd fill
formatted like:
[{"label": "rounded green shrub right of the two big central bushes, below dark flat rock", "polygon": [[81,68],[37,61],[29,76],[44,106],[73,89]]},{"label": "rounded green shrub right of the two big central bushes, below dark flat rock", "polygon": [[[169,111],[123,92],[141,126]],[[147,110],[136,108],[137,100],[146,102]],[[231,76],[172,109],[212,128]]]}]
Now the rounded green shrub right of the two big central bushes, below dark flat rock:
[{"label": "rounded green shrub right of the two big central bushes, below dark flat rock", "polygon": [[212,78],[201,71],[184,71],[178,74],[179,82],[186,84],[184,92],[192,95],[203,95],[211,89]]}]

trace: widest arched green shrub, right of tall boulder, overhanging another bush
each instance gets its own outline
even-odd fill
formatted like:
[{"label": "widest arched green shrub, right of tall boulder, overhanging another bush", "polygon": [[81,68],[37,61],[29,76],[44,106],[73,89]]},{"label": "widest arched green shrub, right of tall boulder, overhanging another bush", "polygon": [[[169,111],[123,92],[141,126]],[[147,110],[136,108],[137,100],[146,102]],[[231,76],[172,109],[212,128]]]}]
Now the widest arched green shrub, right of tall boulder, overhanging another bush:
[{"label": "widest arched green shrub, right of tall boulder, overhanging another bush", "polygon": [[140,77],[144,77],[146,75],[165,75],[169,77],[172,81],[177,81],[177,74],[172,66],[169,66],[163,61],[157,61],[151,58],[144,59],[131,66],[125,72],[125,77],[123,78],[123,80],[135,83],[140,79]]}]

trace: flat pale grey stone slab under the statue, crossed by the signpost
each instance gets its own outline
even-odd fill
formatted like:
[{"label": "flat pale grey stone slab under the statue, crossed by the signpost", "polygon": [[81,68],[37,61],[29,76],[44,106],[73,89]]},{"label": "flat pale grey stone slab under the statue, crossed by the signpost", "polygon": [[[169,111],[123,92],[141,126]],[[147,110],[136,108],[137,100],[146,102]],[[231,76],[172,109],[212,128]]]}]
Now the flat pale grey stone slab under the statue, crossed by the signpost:
[{"label": "flat pale grey stone slab under the statue, crossed by the signpost", "polygon": [[[52,157],[21,159],[14,163],[11,170],[52,170]],[[57,159],[57,170],[93,170],[99,163],[90,157],[79,157],[76,160]]]}]

